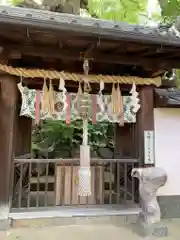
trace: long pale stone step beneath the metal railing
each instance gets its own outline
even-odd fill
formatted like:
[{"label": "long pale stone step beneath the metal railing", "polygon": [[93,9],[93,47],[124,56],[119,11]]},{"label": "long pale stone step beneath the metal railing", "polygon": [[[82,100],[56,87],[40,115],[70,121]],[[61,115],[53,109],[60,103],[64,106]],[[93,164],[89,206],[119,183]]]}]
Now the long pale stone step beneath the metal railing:
[{"label": "long pale stone step beneath the metal railing", "polygon": [[131,207],[56,207],[41,210],[12,211],[12,227],[67,226],[67,225],[124,225],[137,221],[138,206]]}]

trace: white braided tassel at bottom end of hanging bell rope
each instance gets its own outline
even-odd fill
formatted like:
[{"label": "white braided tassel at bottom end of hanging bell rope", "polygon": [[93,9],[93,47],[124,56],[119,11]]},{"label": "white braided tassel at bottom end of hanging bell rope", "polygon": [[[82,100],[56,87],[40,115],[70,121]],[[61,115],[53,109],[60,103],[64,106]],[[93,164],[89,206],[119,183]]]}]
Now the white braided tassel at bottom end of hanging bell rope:
[{"label": "white braided tassel at bottom end of hanging bell rope", "polygon": [[86,197],[91,195],[91,169],[90,167],[79,168],[78,195]]}]

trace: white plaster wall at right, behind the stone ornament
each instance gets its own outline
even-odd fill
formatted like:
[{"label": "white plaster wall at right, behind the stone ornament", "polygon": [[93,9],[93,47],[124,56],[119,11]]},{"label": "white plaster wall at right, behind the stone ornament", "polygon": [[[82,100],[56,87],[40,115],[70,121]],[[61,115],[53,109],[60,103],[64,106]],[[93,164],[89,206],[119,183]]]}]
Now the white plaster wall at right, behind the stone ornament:
[{"label": "white plaster wall at right, behind the stone ornament", "polygon": [[180,195],[180,109],[154,109],[154,123],[155,165],[168,174],[158,195]]}]

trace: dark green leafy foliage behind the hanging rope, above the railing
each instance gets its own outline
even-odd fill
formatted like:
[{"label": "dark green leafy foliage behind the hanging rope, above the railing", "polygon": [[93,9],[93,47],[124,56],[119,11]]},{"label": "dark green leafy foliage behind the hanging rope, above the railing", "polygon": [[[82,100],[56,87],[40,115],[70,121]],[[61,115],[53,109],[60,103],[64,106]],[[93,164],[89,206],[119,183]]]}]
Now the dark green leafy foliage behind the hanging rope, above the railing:
[{"label": "dark green leafy foliage behind the hanging rope, above the railing", "polygon": [[[111,123],[88,124],[89,145],[93,151],[99,147],[114,148],[114,125]],[[48,152],[73,153],[79,149],[82,143],[82,122],[73,121],[66,125],[63,121],[43,121],[33,130],[32,151],[38,154]]]}]

